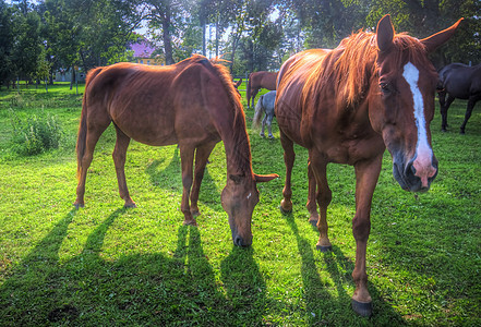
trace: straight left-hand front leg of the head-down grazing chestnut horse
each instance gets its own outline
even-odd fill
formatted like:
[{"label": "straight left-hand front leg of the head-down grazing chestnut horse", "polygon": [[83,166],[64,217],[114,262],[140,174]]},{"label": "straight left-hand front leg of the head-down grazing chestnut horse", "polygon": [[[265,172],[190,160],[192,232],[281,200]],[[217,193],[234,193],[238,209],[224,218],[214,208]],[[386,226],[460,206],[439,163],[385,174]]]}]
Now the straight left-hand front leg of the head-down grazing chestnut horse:
[{"label": "straight left-hand front leg of the head-down grazing chestnut horse", "polygon": [[189,205],[189,196],[192,186],[192,170],[194,166],[194,152],[193,146],[183,146],[180,144],[180,161],[182,166],[182,202],[180,209],[183,213],[184,220],[183,225],[197,226],[195,218],[192,216],[191,208]]}]

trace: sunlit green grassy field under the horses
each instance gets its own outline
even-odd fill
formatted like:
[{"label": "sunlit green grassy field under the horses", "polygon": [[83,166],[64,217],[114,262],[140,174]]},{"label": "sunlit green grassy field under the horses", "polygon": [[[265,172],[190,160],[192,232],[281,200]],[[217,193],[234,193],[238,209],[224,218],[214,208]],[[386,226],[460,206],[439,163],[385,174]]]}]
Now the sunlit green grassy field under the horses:
[{"label": "sunlit green grassy field under the horses", "polygon": [[[465,105],[456,100],[449,109],[447,133],[436,112],[440,172],[429,193],[402,191],[385,154],[366,257],[374,314],[362,318],[350,308],[351,167],[328,167],[333,251],[317,252],[318,233],[304,207],[306,152],[297,148],[293,213],[281,215],[278,129],[274,124],[276,140],[261,138],[251,131],[249,110],[254,170],[281,178],[258,185],[253,245],[238,249],[220,206],[221,144],[202,184],[197,228],[182,226],[176,146],[131,144],[125,171],[139,207],[122,207],[110,128],[96,147],[86,206],[75,210],[81,96],[65,85],[48,94],[0,92],[0,325],[480,326],[481,108],[459,135]],[[55,116],[63,131],[60,148],[16,155],[10,109],[21,119]]]}]

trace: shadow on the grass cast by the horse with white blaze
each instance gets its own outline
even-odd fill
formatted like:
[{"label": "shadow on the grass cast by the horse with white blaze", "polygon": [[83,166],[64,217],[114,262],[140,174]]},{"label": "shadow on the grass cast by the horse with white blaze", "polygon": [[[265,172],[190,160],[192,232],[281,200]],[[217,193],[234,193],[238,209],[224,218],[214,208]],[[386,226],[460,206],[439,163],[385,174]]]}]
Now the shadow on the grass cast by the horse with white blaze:
[{"label": "shadow on the grass cast by the horse with white blaze", "polygon": [[[303,298],[306,306],[306,315],[311,325],[329,325],[333,322],[344,326],[352,324],[394,324],[396,326],[406,325],[406,322],[397,314],[389,304],[380,298],[380,292],[375,287],[369,284],[369,291],[372,295],[374,310],[371,318],[358,316],[351,308],[351,295],[348,294],[345,284],[349,283],[353,289],[352,270],[353,263],[342,253],[342,251],[333,245],[330,252],[324,253],[324,264],[330,277],[332,283],[336,289],[336,295],[333,295],[327,288],[329,281],[321,277],[313,252],[313,244],[299,234],[298,226],[292,214],[286,216],[287,223],[292,230],[298,243],[299,254],[302,259],[301,275],[304,286]],[[306,222],[308,223],[308,222]]]}]

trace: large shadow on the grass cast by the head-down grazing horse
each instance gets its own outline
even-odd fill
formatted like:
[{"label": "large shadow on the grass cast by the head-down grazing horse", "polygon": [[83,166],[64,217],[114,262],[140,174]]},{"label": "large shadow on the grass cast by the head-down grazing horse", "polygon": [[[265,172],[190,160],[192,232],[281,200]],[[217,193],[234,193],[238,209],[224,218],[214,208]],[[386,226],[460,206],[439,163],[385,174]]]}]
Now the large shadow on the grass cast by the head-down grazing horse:
[{"label": "large shadow on the grass cast by the head-down grazing horse", "polygon": [[12,326],[262,324],[265,283],[252,250],[232,250],[221,263],[220,284],[195,227],[179,228],[171,255],[136,253],[110,261],[103,255],[104,242],[125,210],[109,215],[88,235],[82,253],[61,263],[59,251],[77,211],[68,213],[0,287],[0,322]]}]

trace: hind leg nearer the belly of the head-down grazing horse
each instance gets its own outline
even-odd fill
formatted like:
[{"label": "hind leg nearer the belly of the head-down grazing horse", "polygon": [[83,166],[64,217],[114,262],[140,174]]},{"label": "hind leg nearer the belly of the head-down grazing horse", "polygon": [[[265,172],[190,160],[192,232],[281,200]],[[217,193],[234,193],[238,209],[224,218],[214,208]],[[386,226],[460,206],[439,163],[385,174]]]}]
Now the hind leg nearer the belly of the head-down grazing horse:
[{"label": "hind leg nearer the belly of the head-down grazing horse", "polygon": [[116,148],[113,149],[112,158],[113,158],[113,164],[116,166],[117,182],[119,183],[119,195],[125,202],[125,204],[123,205],[125,208],[135,208],[136,205],[130,197],[129,189],[127,187],[125,169],[124,169],[127,148],[129,147],[130,137],[127,136],[117,125],[116,125],[116,132],[117,132],[117,142],[116,142]]}]

